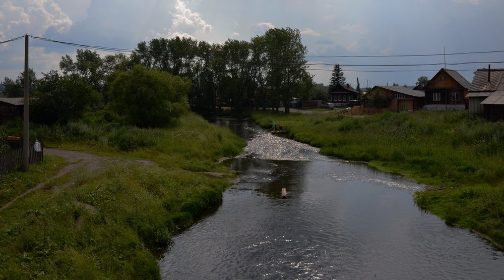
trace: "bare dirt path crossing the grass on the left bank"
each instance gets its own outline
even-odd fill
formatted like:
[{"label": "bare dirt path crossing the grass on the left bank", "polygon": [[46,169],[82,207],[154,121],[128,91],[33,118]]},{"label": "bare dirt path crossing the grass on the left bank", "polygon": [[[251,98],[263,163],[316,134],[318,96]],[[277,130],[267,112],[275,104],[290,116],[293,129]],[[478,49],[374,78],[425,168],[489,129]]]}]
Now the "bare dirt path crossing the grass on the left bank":
[{"label": "bare dirt path crossing the grass on the left bank", "polygon": [[[88,154],[88,153],[59,150],[59,149],[44,149],[44,154],[55,155],[55,156],[65,158],[67,160],[67,162],[69,163],[69,165],[63,167],[55,176],[48,178],[46,181],[25,191],[24,193],[16,196],[13,200],[4,204],[2,206],[2,208],[0,208],[0,210],[3,210],[5,208],[9,207],[11,204],[13,204],[19,198],[21,198],[21,197],[23,197],[33,191],[41,189],[45,185],[46,182],[48,182],[52,179],[64,176],[65,174],[72,172],[78,168],[85,167],[90,173],[94,173],[97,170],[101,169],[105,165],[105,163],[117,162],[120,160],[124,160],[124,159],[119,159],[119,158],[115,158],[115,157],[105,157],[105,156],[98,156],[98,155],[93,155],[93,154]],[[149,161],[149,160],[135,160],[135,161],[138,161],[138,162],[140,162],[142,164],[146,164],[146,165],[154,164],[153,161]],[[72,180],[70,180],[69,182],[65,183],[64,185],[55,187],[53,190],[54,190],[54,192],[60,192],[63,189],[72,186],[73,183],[74,182]]]}]

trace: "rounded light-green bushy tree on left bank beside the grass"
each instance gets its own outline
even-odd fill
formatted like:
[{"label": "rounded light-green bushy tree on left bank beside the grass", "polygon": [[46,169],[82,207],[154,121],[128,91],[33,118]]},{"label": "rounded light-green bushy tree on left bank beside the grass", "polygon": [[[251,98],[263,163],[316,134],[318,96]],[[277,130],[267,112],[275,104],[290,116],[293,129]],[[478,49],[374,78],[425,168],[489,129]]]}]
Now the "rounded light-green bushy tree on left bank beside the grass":
[{"label": "rounded light-green bushy tree on left bank beside the grass", "polygon": [[176,121],[189,106],[187,78],[136,65],[133,70],[111,77],[112,108],[129,124],[139,127],[162,127]]}]

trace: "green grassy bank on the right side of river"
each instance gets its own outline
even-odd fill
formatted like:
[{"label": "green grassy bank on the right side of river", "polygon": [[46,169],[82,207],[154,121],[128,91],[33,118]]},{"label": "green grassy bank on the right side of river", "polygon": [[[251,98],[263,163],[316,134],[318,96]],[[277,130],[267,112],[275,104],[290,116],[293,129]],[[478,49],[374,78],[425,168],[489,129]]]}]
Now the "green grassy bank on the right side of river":
[{"label": "green grassy bank on the right side of river", "polygon": [[333,114],[255,113],[263,127],[321,153],[367,161],[429,186],[416,202],[452,225],[504,244],[504,123],[470,120],[467,112],[419,111],[365,118]]}]

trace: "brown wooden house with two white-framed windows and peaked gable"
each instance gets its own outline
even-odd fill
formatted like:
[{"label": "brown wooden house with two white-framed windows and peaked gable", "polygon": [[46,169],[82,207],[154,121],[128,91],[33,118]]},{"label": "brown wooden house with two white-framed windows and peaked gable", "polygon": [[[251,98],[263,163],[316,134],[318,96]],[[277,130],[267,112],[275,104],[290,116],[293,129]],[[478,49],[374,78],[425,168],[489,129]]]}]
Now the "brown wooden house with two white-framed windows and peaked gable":
[{"label": "brown wooden house with two white-framed windows and peaked gable", "polygon": [[457,71],[442,68],[425,84],[425,109],[462,111],[469,107],[466,97],[471,83]]}]

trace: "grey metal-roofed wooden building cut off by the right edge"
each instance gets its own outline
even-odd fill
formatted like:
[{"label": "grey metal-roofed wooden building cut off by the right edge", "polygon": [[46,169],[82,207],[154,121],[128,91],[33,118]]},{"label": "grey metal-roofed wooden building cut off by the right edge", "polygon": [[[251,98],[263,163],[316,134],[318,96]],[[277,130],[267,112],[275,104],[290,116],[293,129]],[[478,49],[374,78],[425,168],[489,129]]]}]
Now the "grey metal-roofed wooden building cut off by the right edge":
[{"label": "grey metal-roofed wooden building cut off by the right edge", "polygon": [[504,120],[504,69],[476,71],[469,93],[469,115],[488,120]]}]

